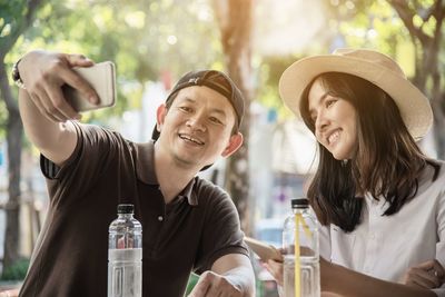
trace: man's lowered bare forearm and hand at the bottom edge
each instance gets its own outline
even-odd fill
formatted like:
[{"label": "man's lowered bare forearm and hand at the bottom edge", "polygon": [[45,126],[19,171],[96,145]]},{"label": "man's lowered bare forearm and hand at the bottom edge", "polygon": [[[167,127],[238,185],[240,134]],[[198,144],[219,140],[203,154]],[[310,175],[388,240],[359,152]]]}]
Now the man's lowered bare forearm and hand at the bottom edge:
[{"label": "man's lowered bare forearm and hand at the bottom edge", "polygon": [[229,254],[217,259],[210,271],[204,273],[189,297],[255,296],[255,275],[250,260],[241,254]]}]

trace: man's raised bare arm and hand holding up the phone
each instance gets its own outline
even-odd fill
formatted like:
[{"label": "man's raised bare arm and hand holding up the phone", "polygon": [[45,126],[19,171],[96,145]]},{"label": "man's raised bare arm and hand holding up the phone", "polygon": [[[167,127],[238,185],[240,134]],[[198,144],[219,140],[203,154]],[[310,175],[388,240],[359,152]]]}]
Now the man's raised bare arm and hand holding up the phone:
[{"label": "man's raised bare arm and hand holding up the phone", "polygon": [[68,83],[97,102],[95,90],[72,67],[89,67],[92,61],[79,55],[31,51],[19,62],[26,90],[20,89],[19,108],[24,131],[40,152],[57,165],[72,154],[77,133],[71,119],[80,115],[66,101],[61,86]]}]

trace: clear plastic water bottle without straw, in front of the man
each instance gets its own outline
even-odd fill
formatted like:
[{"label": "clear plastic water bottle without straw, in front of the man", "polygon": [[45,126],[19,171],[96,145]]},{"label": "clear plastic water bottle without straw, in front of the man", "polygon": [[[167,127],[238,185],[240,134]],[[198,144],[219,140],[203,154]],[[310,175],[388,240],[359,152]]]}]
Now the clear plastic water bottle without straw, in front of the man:
[{"label": "clear plastic water bottle without straw, in front of the man", "polygon": [[108,297],[142,296],[142,227],[134,205],[118,205],[108,229]]}]

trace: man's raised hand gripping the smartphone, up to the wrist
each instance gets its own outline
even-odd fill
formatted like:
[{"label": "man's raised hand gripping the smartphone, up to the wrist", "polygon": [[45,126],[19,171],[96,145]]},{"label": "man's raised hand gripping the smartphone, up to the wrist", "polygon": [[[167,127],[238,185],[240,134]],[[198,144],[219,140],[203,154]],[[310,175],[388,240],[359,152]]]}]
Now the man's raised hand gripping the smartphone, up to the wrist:
[{"label": "man's raised hand gripping the smartphone, up to the wrist", "polygon": [[68,83],[89,98],[91,103],[99,97],[91,86],[72,67],[90,67],[93,62],[81,55],[31,51],[19,62],[20,77],[32,102],[40,113],[55,122],[80,119],[80,115],[66,101],[61,86]]}]

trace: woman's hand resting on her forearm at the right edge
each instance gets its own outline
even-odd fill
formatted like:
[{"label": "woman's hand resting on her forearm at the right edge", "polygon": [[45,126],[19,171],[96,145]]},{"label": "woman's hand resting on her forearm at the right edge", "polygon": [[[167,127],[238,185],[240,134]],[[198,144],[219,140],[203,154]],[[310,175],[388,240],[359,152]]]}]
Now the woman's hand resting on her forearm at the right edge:
[{"label": "woman's hand resting on her forearm at the right edge", "polygon": [[436,259],[411,267],[403,277],[403,284],[425,289],[438,288],[444,280],[444,267]]}]

